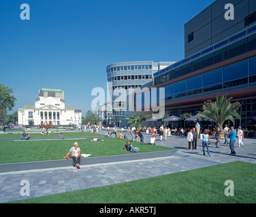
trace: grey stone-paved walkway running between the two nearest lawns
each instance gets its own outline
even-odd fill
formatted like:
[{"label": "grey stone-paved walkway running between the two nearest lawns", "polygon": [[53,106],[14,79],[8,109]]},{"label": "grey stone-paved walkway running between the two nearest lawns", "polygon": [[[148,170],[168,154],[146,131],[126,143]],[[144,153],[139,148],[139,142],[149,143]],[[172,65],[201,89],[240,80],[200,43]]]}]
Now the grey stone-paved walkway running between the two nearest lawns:
[{"label": "grey stone-paved walkway running between the two nearest lawns", "polygon": [[[101,131],[101,133],[104,132]],[[254,138],[244,138],[244,147],[240,148],[236,142],[236,156],[229,155],[230,149],[227,144],[223,144],[224,140],[221,140],[220,148],[215,148],[212,139],[210,144],[211,157],[202,155],[202,140],[198,141],[197,150],[189,151],[186,137],[168,136],[166,141],[159,141],[159,136],[156,136],[156,138],[157,145],[176,148],[177,151],[174,155],[163,157],[159,155],[159,157],[154,158],[150,158],[150,155],[148,155],[149,158],[146,159],[140,159],[140,157],[136,159],[127,158],[125,161],[111,160],[89,165],[82,163],[80,170],[72,167],[70,163],[70,165],[62,167],[1,172],[0,203],[130,182],[220,163],[233,161],[256,163],[256,140]],[[149,140],[150,135],[144,134],[144,142],[149,142]],[[20,194],[20,189],[23,186],[20,184],[22,180],[29,181],[29,196]]]}]

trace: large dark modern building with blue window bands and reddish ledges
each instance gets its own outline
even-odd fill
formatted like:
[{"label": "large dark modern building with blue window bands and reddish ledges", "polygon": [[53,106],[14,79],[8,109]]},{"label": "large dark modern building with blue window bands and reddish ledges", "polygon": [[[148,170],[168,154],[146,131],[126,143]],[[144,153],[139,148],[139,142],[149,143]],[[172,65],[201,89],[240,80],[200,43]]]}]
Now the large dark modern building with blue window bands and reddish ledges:
[{"label": "large dark modern building with blue window bands and reddish ledges", "polygon": [[[154,73],[152,87],[165,88],[165,113],[178,117],[197,114],[205,101],[227,94],[242,105],[236,127],[251,128],[256,124],[256,1],[228,3],[234,4],[235,20],[225,20],[225,4],[217,0],[185,25],[185,59]],[[197,35],[204,26],[210,26],[208,34]]]}]

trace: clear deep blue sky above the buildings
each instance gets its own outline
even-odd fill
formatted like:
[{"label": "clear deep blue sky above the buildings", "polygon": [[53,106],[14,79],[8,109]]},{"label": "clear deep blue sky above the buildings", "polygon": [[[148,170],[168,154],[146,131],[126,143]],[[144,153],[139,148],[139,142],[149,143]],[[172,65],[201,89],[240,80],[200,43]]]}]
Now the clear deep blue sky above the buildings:
[{"label": "clear deep blue sky above the buildings", "polygon": [[[3,0],[0,83],[12,87],[14,111],[41,88],[65,91],[67,106],[91,109],[106,89],[106,66],[184,58],[184,24],[214,0]],[[20,19],[28,3],[31,20]]]}]

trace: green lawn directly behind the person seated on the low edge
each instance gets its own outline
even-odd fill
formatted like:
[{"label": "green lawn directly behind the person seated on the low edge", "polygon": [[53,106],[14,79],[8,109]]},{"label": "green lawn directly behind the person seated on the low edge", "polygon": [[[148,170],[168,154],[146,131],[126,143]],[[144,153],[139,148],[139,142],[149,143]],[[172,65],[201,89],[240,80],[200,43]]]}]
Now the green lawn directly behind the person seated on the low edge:
[{"label": "green lawn directly behind the person seated on the low edge", "polygon": [[[131,153],[123,149],[127,140],[119,138],[102,138],[102,140],[104,141],[91,142],[91,139],[1,141],[1,153],[5,154],[1,156],[0,163],[63,159],[74,142],[78,142],[81,154],[91,154],[91,157]],[[137,146],[140,149],[140,153],[172,149],[158,145],[140,144],[140,142],[132,144],[133,147]]]}]

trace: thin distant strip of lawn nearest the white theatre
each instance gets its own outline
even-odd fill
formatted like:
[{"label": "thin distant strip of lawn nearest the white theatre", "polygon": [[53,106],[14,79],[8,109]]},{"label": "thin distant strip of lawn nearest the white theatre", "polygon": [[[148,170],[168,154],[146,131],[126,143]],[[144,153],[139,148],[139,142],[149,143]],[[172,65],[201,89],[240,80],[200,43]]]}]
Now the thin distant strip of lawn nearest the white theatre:
[{"label": "thin distant strip of lawn nearest the white theatre", "polygon": [[[40,133],[31,133],[26,132],[26,134],[29,134],[31,138],[57,138],[61,132],[56,132],[56,133],[50,133],[49,135],[42,135]],[[87,137],[87,136],[104,136],[102,134],[93,134],[91,132],[62,132],[64,138],[67,137]],[[22,133],[17,134],[17,133],[12,133],[12,134],[0,134],[0,138],[16,138],[20,139],[22,136]]]}]

